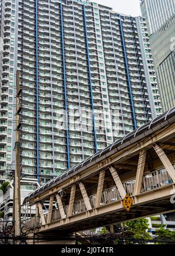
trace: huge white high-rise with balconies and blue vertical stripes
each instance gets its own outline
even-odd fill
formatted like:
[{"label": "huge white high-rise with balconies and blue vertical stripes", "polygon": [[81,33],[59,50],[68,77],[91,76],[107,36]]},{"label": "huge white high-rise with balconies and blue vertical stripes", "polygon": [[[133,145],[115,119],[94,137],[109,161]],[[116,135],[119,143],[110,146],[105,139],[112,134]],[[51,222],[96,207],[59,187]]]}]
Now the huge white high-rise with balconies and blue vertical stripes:
[{"label": "huge white high-rise with balconies and blue vertical stripes", "polygon": [[143,18],[89,1],[0,2],[0,178],[15,159],[17,70],[22,173],[40,183],[160,114]]}]

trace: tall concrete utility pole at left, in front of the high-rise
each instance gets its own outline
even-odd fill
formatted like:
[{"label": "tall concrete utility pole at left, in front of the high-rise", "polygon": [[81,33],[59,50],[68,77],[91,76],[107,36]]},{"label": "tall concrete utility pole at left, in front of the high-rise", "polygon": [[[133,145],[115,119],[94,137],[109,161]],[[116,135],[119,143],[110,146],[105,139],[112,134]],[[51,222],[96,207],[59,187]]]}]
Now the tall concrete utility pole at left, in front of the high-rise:
[{"label": "tall concrete utility pole at left, in front of the high-rise", "polygon": [[[15,222],[15,237],[20,236],[21,228],[21,210],[20,210],[20,131],[19,128],[22,125],[19,122],[19,113],[22,110],[20,107],[19,96],[22,92],[20,88],[20,71],[16,71],[16,170],[15,180],[13,186],[13,221]],[[19,244],[19,240],[15,241],[15,244]]]}]

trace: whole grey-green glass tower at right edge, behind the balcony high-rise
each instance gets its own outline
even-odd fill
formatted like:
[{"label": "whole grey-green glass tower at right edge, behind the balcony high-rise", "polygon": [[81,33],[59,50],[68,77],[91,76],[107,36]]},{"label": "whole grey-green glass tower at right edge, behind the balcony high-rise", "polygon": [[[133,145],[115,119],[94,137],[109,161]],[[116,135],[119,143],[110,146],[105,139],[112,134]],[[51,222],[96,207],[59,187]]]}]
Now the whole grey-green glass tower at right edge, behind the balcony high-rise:
[{"label": "whole grey-green glass tower at right edge, behind the balcony high-rise", "polygon": [[142,0],[163,111],[175,105],[175,0]]}]

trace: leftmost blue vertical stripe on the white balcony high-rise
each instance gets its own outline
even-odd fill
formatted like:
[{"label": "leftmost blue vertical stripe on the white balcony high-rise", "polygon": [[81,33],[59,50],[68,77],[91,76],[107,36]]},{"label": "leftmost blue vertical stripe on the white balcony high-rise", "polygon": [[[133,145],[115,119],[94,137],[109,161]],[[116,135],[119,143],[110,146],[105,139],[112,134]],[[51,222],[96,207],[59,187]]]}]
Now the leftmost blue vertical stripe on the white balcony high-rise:
[{"label": "leftmost blue vertical stripe on the white balcony high-rise", "polygon": [[39,182],[39,118],[38,118],[38,1],[36,4],[36,169],[37,169],[37,180]]}]

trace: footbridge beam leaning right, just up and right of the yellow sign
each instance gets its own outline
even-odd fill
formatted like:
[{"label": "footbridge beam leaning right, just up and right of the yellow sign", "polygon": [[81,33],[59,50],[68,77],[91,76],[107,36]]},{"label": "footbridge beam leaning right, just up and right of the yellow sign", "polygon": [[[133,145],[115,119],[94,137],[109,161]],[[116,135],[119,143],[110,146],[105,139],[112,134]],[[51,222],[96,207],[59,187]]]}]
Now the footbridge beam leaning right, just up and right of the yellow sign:
[{"label": "footbridge beam leaning right, just up and right of the yellow sign", "polygon": [[139,153],[138,166],[136,170],[136,180],[135,180],[135,186],[134,186],[134,195],[141,193],[143,172],[145,169],[145,161],[146,161],[146,152],[147,152],[146,149],[141,149]]}]

